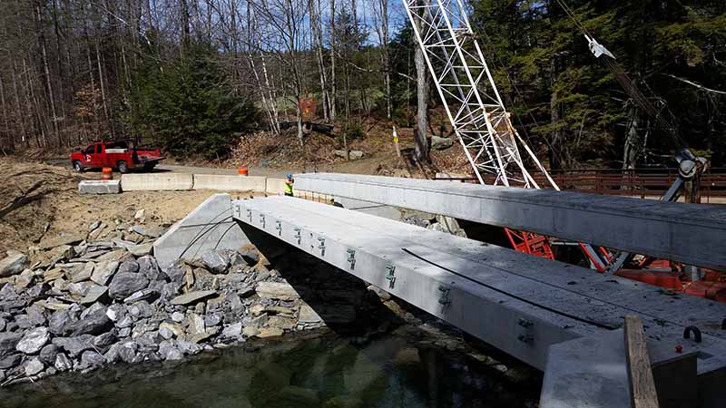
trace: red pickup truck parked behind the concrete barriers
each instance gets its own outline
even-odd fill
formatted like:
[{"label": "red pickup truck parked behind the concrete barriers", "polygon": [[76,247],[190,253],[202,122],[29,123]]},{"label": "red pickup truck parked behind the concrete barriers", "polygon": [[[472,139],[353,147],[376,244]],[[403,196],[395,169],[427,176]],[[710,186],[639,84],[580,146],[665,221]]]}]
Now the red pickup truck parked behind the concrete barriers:
[{"label": "red pickup truck parked behind the concrete barriers", "polygon": [[96,141],[71,153],[74,170],[113,167],[125,173],[132,169],[152,170],[163,160],[159,149],[129,148],[125,141]]}]

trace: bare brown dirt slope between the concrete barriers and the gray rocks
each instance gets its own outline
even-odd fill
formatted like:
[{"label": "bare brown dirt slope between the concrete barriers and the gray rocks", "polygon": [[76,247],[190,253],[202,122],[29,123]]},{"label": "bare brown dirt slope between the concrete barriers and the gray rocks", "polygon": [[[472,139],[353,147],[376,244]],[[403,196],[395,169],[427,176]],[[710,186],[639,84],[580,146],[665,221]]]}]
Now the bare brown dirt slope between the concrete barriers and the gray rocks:
[{"label": "bare brown dirt slope between the concrete barriers and the gray rocks", "polygon": [[[168,226],[196,208],[211,191],[134,191],[81,196],[78,181],[101,174],[11,158],[0,159],[0,254],[26,252],[41,238],[87,232],[93,221],[113,225],[145,209],[147,223]],[[2,257],[2,255],[0,255]]]}]

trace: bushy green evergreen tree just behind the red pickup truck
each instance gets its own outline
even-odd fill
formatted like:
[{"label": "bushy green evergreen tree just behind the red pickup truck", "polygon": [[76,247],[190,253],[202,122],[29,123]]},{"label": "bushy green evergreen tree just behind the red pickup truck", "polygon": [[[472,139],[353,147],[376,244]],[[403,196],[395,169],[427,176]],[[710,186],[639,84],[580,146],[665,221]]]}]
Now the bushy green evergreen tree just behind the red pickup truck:
[{"label": "bushy green evergreen tree just behind the red pickup truck", "polygon": [[254,127],[257,111],[226,83],[216,56],[192,44],[171,63],[149,63],[135,79],[127,117],[131,129],[177,157],[223,159]]}]

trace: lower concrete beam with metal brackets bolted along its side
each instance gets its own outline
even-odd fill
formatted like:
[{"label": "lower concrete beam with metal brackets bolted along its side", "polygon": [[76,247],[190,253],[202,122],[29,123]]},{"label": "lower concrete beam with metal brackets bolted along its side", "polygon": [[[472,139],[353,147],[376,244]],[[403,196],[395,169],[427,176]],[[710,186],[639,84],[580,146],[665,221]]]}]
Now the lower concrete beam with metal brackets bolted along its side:
[{"label": "lower concrete beam with metal brackets bolted along its side", "polygon": [[[550,345],[609,333],[638,315],[663,345],[701,353],[699,374],[726,366],[726,305],[506,248],[304,199],[232,201],[232,216],[544,369]],[[698,325],[701,343],[684,340]]]}]

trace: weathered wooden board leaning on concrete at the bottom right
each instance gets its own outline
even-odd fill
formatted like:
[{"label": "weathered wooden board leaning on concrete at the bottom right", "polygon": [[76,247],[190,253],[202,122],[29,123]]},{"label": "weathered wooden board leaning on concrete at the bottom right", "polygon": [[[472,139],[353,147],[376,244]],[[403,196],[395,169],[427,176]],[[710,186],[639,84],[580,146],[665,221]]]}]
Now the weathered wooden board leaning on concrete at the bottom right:
[{"label": "weathered wooden board leaning on concrete at the bottom right", "polygon": [[651,358],[643,333],[643,321],[638,316],[625,316],[625,357],[628,363],[631,406],[658,408],[658,394],[652,379]]}]

